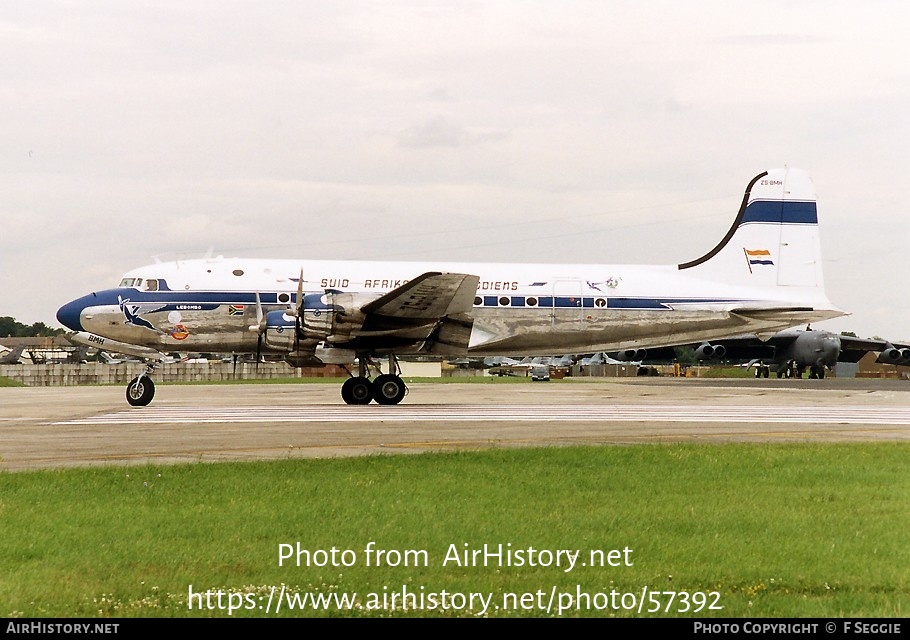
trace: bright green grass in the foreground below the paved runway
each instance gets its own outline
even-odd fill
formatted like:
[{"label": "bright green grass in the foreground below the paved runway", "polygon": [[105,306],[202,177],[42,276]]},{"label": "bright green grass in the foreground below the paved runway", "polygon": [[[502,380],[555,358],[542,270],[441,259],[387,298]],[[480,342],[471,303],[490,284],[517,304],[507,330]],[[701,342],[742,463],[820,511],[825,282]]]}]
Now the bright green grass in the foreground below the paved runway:
[{"label": "bright green grass in the foreground below the paved runway", "polygon": [[[265,606],[282,585],[356,593],[360,607],[279,615],[480,613],[369,608],[369,594],[404,585],[491,594],[492,606],[507,593],[594,598],[563,616],[904,617],[908,455],[906,443],[665,444],[0,473],[0,616],[228,615],[202,600],[190,610],[190,585],[213,607],[218,590],[224,607]],[[370,542],[399,566],[367,566]],[[280,566],[281,544],[335,549],[339,566]],[[450,548],[484,544],[581,554],[571,571],[443,566]],[[590,564],[592,551],[625,548],[631,566]],[[601,606],[644,588],[662,592],[661,611]],[[683,612],[671,591],[690,594],[690,609],[716,593],[708,603],[723,608]],[[556,615],[492,606],[485,615]]]}]

